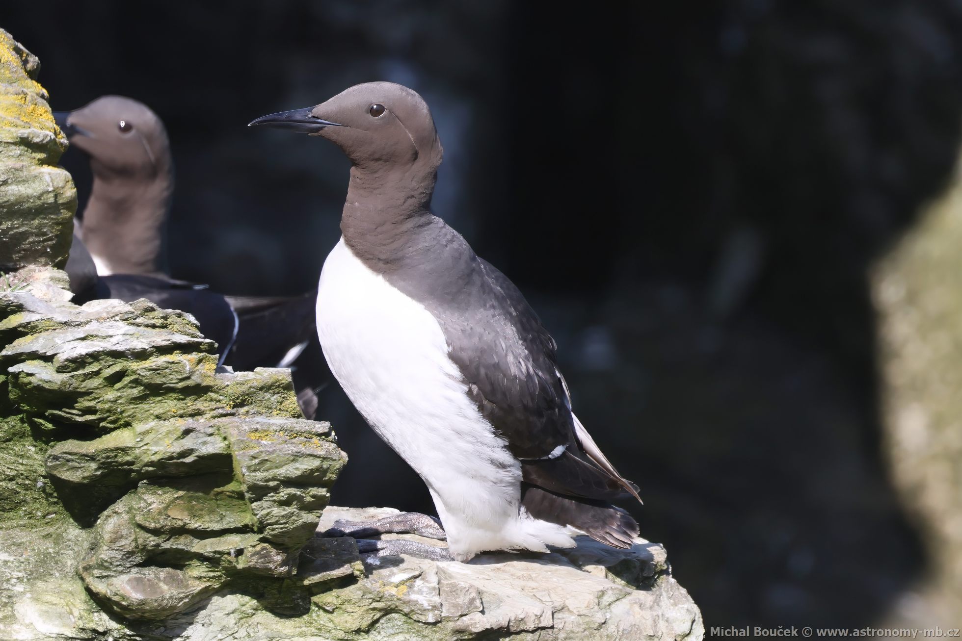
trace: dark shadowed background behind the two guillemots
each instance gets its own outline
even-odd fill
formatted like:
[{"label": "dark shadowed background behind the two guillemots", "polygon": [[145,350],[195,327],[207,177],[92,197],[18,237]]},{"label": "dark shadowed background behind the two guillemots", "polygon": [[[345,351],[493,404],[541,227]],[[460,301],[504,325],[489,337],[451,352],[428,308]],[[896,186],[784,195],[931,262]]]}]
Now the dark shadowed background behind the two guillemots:
[{"label": "dark shadowed background behind the two guillemots", "polygon": [[[74,0],[0,25],[55,110],[161,115],[171,273],[224,293],[314,287],[347,182],[332,145],[246,123],[418,90],[435,212],[542,315],[706,627],[873,625],[935,561],[882,455],[869,268],[951,177],[962,3],[632,6]],[[336,503],[432,510],[336,383],[318,414],[351,458]]]}]

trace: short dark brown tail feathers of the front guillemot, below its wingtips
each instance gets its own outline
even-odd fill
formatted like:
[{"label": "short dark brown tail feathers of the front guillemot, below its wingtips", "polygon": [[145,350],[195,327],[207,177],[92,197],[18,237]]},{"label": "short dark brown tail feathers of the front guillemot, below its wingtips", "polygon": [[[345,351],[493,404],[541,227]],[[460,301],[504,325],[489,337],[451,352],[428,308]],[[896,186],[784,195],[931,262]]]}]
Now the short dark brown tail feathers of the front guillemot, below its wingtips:
[{"label": "short dark brown tail feathers of the front guillemot, below its wingtips", "polygon": [[631,515],[603,501],[575,499],[522,483],[521,505],[536,519],[581,530],[613,548],[630,548],[638,536],[638,523]]}]

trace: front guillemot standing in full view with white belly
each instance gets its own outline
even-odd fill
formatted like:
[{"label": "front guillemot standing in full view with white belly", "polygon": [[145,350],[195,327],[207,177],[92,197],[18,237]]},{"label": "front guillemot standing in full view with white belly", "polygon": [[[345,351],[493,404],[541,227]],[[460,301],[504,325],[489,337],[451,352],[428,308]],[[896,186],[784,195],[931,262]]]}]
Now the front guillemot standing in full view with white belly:
[{"label": "front guillemot standing in full view with white belly", "polygon": [[351,160],[317,333],[335,378],[425,481],[443,525],[406,513],[337,529],[446,534],[446,552],[394,539],[379,554],[461,561],[571,547],[578,532],[629,547],[638,525],[609,502],[641,499],[571,412],[554,340],[518,287],[429,210],[443,152],[418,93],[368,83],[250,124],[325,137]]}]

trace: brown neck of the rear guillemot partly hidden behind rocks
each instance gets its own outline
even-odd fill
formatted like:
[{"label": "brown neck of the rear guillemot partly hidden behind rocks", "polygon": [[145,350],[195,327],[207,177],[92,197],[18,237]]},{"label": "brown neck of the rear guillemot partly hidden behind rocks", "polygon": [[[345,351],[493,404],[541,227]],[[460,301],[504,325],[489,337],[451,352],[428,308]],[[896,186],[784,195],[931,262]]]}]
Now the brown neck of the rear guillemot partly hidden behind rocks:
[{"label": "brown neck of the rear guillemot partly hidden behind rocks", "polygon": [[162,273],[164,224],[172,193],[171,170],[145,178],[94,173],[83,240],[101,276]]}]

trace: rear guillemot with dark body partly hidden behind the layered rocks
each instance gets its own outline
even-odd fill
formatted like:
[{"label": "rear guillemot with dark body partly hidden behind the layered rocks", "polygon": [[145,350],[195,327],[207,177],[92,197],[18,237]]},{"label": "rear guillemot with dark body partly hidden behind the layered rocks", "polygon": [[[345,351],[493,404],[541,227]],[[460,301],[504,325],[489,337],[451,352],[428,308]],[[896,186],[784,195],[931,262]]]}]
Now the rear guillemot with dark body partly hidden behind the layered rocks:
[{"label": "rear guillemot with dark body partly hidden behind the layered rocks", "polygon": [[[220,364],[237,369],[290,366],[316,342],[313,292],[230,297],[165,274],[162,248],[174,172],[164,122],[154,111],[132,98],[102,96],[55,117],[70,145],[88,156],[93,174],[67,263],[76,302],[146,298],[187,311],[220,347]],[[295,370],[295,385],[305,415],[313,417],[313,389],[323,375],[306,371],[310,376]]]}]

